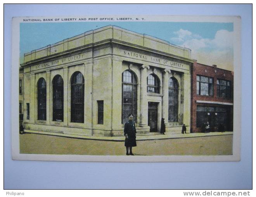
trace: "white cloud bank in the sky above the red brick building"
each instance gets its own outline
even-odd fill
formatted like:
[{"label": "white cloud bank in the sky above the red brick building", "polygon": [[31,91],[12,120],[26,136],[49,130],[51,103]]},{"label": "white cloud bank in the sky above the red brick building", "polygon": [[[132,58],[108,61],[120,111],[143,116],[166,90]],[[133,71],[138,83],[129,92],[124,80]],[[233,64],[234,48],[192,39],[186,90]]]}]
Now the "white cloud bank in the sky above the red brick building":
[{"label": "white cloud bank in the sky above the red brick building", "polygon": [[174,33],[177,37],[171,41],[191,49],[191,58],[197,59],[198,63],[233,70],[233,32],[219,30],[213,39],[202,38],[184,29]]}]

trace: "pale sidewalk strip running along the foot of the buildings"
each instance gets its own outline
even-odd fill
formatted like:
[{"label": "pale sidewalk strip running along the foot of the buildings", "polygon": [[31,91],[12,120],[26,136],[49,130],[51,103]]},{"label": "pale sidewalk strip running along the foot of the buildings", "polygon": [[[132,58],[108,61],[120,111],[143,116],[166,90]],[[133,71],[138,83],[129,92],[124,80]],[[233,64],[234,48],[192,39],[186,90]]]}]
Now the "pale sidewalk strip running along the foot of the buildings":
[{"label": "pale sidewalk strip running along the foot of the buildings", "polygon": [[[31,131],[31,130],[24,130],[24,131],[27,133],[62,136],[66,138],[91,139],[91,140],[102,140],[102,141],[125,141],[125,136],[115,136],[115,137],[81,136],[81,135],[74,135],[74,134],[63,134],[63,133],[44,132],[44,131]],[[233,135],[233,132],[226,131],[226,132],[164,134],[164,135],[156,132],[156,133],[150,133],[146,135],[138,135],[136,140],[145,141],[145,140],[154,140],[154,139],[197,138],[197,137],[222,136],[222,135]]]}]

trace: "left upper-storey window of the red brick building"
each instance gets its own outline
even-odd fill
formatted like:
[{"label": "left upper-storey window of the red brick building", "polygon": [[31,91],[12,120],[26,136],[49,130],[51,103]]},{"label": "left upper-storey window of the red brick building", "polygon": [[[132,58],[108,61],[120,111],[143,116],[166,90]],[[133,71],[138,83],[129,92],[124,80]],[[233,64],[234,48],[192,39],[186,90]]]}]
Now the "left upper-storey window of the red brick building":
[{"label": "left upper-storey window of the red brick building", "polygon": [[213,78],[207,76],[196,76],[196,94],[213,96]]}]

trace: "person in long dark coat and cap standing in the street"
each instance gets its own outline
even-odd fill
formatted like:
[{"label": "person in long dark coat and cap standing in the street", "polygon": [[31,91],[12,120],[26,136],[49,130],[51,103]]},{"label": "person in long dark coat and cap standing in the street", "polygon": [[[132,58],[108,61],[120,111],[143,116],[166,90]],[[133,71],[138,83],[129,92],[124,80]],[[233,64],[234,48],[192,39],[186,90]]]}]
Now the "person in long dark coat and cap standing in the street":
[{"label": "person in long dark coat and cap standing in the street", "polygon": [[[129,121],[125,123],[124,128],[126,155],[133,155],[132,147],[137,146],[136,133],[135,123],[133,122],[133,114],[129,114]],[[129,148],[130,153],[128,152]]]}]

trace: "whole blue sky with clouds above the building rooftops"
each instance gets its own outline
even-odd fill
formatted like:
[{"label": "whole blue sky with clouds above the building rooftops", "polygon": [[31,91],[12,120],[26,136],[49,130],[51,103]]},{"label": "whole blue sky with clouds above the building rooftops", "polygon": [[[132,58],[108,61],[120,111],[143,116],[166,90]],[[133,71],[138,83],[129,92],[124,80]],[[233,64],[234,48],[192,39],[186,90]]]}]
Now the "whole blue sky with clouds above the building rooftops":
[{"label": "whole blue sky with clouds above the building rooftops", "polygon": [[24,53],[106,25],[117,25],[190,48],[192,58],[199,63],[233,70],[233,23],[214,22],[21,23],[21,59]]}]

